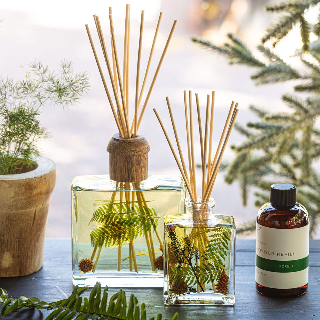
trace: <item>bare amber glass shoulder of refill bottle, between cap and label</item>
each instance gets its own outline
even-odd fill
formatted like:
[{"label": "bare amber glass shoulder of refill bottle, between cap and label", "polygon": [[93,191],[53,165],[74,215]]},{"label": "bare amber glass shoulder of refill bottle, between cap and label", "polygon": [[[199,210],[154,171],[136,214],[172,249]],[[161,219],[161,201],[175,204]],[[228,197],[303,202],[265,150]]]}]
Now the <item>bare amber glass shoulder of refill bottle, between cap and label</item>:
[{"label": "bare amber glass shoulder of refill bottle, between cap and label", "polygon": [[258,211],[257,223],[269,228],[300,228],[309,223],[309,216],[300,203],[288,208],[275,208],[268,202]]}]

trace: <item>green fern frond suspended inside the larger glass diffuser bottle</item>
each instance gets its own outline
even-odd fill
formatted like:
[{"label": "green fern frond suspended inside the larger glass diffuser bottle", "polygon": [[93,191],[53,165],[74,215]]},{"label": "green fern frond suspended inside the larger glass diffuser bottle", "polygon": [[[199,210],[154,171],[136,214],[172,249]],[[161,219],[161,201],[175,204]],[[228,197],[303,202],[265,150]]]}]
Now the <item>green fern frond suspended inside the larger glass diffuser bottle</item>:
[{"label": "green fern frond suspended inside the larger glass diffuser bottle", "polygon": [[94,211],[90,222],[100,225],[90,234],[92,246],[112,247],[155,231],[159,217],[144,205],[113,203]]}]

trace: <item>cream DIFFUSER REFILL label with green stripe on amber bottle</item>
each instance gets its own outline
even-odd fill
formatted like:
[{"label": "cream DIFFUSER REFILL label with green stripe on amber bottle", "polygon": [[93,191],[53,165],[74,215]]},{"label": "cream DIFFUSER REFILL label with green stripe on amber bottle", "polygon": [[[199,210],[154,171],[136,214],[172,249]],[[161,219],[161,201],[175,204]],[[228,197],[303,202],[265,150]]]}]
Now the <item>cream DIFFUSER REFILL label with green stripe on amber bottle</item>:
[{"label": "cream DIFFUSER REFILL label with green stripe on amber bottle", "polygon": [[308,283],[309,224],[294,229],[256,228],[256,282],[276,289]]}]

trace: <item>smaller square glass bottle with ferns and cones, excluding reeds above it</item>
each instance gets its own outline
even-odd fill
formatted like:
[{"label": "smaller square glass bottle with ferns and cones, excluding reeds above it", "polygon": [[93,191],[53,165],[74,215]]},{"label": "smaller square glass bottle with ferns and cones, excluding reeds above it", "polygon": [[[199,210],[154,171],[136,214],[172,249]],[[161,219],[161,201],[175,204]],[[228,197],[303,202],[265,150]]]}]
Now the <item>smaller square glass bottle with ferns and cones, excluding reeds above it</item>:
[{"label": "smaller square glass bottle with ferns and cones, excluding reeds above it", "polygon": [[165,217],[164,304],[235,303],[235,221],[208,202],[185,200],[186,214]]}]

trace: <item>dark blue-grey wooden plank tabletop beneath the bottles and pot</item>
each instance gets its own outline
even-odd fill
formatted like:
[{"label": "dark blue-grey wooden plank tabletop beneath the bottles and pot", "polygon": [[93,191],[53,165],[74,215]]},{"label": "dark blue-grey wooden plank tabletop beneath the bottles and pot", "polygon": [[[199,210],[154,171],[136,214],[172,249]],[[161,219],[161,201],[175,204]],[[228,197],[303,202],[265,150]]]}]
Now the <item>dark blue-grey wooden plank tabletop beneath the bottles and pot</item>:
[{"label": "dark blue-grey wooden plank tabletop beneath the bottles and pot", "polygon": [[[1,257],[0,257],[1,259]],[[69,296],[71,282],[71,240],[47,238],[43,268],[29,276],[0,278],[0,287],[9,298],[36,296],[52,302]],[[268,298],[255,290],[255,241],[239,239],[236,242],[236,303],[223,306],[163,305],[162,289],[126,288],[127,295],[134,293],[139,302],[146,303],[147,318],[158,313],[171,318],[179,312],[180,320],[202,319],[320,319],[320,240],[310,240],[309,284],[306,294],[296,298]],[[118,289],[109,288],[109,292]],[[83,296],[88,296],[84,294]],[[4,319],[44,319],[48,311],[27,310],[13,312]]]}]

